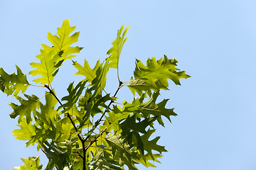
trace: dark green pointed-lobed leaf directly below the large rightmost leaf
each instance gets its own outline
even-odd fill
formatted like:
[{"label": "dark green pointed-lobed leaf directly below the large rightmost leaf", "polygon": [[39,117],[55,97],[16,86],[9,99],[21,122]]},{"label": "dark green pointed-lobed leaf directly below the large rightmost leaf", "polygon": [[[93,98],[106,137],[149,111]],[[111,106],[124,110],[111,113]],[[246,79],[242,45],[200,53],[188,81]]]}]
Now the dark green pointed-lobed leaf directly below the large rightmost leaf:
[{"label": "dark green pointed-lobed leaf directly below the large rightmost leaf", "polygon": [[164,126],[164,122],[161,119],[161,115],[164,115],[170,122],[171,122],[171,115],[177,115],[174,113],[174,108],[165,108],[167,101],[169,99],[164,99],[160,103],[156,104],[156,98],[159,96],[159,91],[154,92],[154,94],[151,94],[149,100],[142,103],[141,106],[138,106],[140,109],[139,111],[142,112],[144,115],[144,118],[147,118],[149,115],[157,116],[156,120],[159,122],[160,125]]}]

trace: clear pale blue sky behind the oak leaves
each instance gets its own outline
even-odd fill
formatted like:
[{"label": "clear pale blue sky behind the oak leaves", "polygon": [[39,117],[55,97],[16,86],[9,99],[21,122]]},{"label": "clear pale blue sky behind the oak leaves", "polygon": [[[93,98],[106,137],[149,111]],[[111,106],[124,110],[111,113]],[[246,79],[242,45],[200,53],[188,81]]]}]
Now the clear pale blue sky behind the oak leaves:
[{"label": "clear pale blue sky behind the oak leaves", "polygon": [[[162,91],[162,99],[170,98],[167,108],[175,108],[178,116],[172,123],[166,120],[166,128],[157,128],[159,145],[169,152],[149,169],[256,169],[255,8],[256,1],[247,0],[0,1],[0,67],[11,74],[17,64],[28,74],[41,44],[50,45],[47,31],[55,34],[65,19],[77,26],[76,45],[84,47],[73,60],[83,64],[86,58],[93,65],[107,57],[125,23],[129,38],[119,62],[122,81],[132,76],[135,59],[145,63],[163,55],[175,57],[178,68],[192,76],[182,79],[182,86],[170,81],[170,91]],[[63,67],[53,84],[60,97],[81,78],[73,75],[71,60]],[[115,74],[108,83],[118,85]],[[30,88],[28,93],[40,96],[45,90]],[[132,97],[125,90],[119,94],[120,100]],[[23,164],[20,157],[40,153],[11,134],[18,128],[17,120],[9,118],[14,98],[1,94],[0,101],[0,164],[12,169]]]}]

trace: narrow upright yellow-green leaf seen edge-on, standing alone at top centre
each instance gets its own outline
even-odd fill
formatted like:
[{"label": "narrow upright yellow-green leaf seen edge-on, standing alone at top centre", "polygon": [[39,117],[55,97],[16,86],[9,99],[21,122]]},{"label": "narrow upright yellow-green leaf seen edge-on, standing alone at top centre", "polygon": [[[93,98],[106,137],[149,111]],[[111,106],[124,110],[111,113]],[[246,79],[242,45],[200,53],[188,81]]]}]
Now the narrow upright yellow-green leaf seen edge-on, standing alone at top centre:
[{"label": "narrow upright yellow-green leaf seen edge-on, standing alone at top centre", "polygon": [[128,28],[129,26],[124,30],[124,33],[122,33],[124,25],[121,26],[120,30],[117,30],[117,38],[112,42],[113,47],[111,47],[110,50],[107,51],[107,55],[110,55],[110,57],[107,57],[107,59],[110,60],[110,68],[118,69],[119,57],[122,52],[122,47],[124,45],[124,42],[126,42],[128,38],[124,38]]}]

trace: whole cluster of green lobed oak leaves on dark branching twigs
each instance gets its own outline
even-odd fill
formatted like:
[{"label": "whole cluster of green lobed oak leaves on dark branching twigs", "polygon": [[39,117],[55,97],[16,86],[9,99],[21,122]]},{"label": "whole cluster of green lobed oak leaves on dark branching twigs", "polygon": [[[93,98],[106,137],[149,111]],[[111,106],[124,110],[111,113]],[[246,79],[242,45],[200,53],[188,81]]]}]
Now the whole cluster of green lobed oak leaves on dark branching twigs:
[{"label": "whole cluster of green lobed oak leaves on dark branching twigs", "polygon": [[[156,99],[161,89],[168,89],[168,79],[180,84],[179,79],[190,76],[176,68],[177,60],[164,55],[160,60],[152,57],[146,65],[136,60],[134,77],[129,81],[120,81],[119,56],[128,30],[122,26],[105,61],[98,61],[93,69],[87,60],[83,66],[73,61],[73,66],[78,69],[75,74],[85,79],[76,85],[71,83],[68,95],[60,100],[51,83],[63,62],[82,50],[82,47],[70,47],[78,41],[79,32],[70,35],[74,30],[68,20],[63,21],[57,35],[48,33],[47,38],[53,46],[42,45],[41,54],[36,56],[40,62],[31,63],[35,69],[28,74],[41,75],[33,81],[41,84],[39,87],[46,88],[45,96],[38,98],[34,94],[25,94],[28,86],[38,85],[28,83],[26,74],[18,66],[17,74],[7,74],[0,69],[1,91],[7,96],[14,96],[20,103],[10,104],[14,109],[11,118],[18,118],[19,128],[14,130],[14,136],[18,140],[26,140],[26,147],[36,144],[38,151],[46,154],[49,159],[47,170],[124,169],[124,165],[137,169],[135,164],[154,166],[149,161],[159,162],[162,152],[166,152],[163,146],[157,145],[160,137],[149,140],[155,132],[154,122],[164,126],[163,117],[171,122],[170,116],[176,115],[173,108],[166,108],[168,99],[160,103],[156,103]],[[104,90],[110,68],[117,69],[119,80],[113,96]],[[134,97],[130,103],[123,101],[118,104],[116,96],[124,86],[139,97]],[[41,103],[43,98],[44,104]],[[24,165],[14,169],[43,168],[38,157],[22,160]]]}]

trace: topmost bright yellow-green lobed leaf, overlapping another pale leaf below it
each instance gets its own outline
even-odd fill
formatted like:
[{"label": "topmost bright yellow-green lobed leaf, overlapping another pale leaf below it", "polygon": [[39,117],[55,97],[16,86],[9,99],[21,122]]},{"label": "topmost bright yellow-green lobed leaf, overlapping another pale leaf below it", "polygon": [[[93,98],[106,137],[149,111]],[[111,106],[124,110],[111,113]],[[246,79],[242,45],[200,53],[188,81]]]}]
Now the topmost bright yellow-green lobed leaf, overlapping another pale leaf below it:
[{"label": "topmost bright yellow-green lobed leaf, overlapping another pale leaf below it", "polygon": [[82,47],[70,47],[75,42],[78,42],[78,36],[80,32],[76,32],[73,35],[69,36],[75,30],[75,26],[70,27],[69,21],[63,21],[63,26],[61,28],[57,28],[57,35],[52,35],[48,33],[48,40],[53,44],[55,48],[55,52],[63,51],[63,54],[58,59],[56,64],[60,61],[65,61],[67,59],[71,59],[75,57],[75,55],[71,55],[73,53],[78,53],[82,50]]}]

